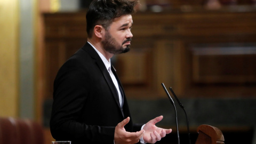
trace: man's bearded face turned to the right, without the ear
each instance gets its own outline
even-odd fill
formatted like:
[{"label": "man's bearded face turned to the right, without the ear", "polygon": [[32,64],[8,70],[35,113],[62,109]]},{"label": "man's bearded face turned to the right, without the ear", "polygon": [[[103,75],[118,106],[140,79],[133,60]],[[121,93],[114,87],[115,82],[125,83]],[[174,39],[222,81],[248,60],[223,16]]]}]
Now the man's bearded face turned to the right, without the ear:
[{"label": "man's bearded face turned to the right, without the ear", "polygon": [[102,41],[107,52],[119,54],[130,50],[133,36],[131,33],[132,23],[132,15],[123,15],[111,23]]}]

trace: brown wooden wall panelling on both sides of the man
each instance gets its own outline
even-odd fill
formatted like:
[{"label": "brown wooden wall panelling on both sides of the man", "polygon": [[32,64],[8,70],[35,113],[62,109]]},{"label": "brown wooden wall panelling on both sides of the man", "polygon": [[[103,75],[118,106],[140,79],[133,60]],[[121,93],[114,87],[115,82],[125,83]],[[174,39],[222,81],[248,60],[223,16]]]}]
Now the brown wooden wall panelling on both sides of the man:
[{"label": "brown wooden wall panelling on both sides of the man", "polygon": [[[57,69],[86,42],[86,19],[84,12],[44,17],[46,61],[54,61],[45,76],[51,93]],[[138,12],[133,22],[131,51],[113,59],[127,97],[166,97],[161,83],[180,97],[256,97],[255,53],[230,54],[234,47],[256,43],[254,9]],[[229,45],[223,48],[229,54],[218,51],[223,44]],[[198,45],[204,47],[197,49]],[[202,50],[210,54],[197,53]]]}]

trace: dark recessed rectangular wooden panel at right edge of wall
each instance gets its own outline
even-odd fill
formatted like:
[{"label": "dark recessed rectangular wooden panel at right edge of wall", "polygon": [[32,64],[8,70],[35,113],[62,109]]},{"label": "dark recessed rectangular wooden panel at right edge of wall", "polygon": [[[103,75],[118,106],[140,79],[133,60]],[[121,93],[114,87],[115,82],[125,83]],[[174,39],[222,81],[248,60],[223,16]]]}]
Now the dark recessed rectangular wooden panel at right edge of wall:
[{"label": "dark recessed rectangular wooden panel at right edge of wall", "polygon": [[256,45],[194,49],[195,83],[256,83]]}]

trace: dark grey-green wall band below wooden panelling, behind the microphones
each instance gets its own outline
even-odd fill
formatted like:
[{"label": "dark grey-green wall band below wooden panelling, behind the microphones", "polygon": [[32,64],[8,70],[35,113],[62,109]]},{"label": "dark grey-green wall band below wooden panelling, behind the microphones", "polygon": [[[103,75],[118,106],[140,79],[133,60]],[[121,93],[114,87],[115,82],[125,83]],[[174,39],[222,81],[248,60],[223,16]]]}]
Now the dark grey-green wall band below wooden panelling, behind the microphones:
[{"label": "dark grey-green wall band below wooden panelling, behind the microphones", "polygon": [[[181,99],[191,126],[201,124],[217,126],[255,126],[256,99]],[[183,110],[175,102],[178,121],[186,124]],[[163,115],[161,125],[175,125],[174,108],[170,101],[159,100],[129,100],[133,121],[145,123],[147,118]]]}]

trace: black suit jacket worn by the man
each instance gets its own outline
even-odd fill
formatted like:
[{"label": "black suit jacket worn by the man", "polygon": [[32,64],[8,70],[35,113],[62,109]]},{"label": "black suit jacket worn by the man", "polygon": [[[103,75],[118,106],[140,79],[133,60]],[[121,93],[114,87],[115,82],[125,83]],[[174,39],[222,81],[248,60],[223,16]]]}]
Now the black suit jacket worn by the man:
[{"label": "black suit jacket worn by the man", "polygon": [[[115,69],[117,82],[123,91]],[[127,100],[123,108],[116,87],[93,47],[86,43],[60,68],[55,81],[50,121],[56,140],[70,140],[72,144],[113,143],[115,126],[131,117]],[[126,131],[139,131],[132,119]]]}]

